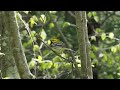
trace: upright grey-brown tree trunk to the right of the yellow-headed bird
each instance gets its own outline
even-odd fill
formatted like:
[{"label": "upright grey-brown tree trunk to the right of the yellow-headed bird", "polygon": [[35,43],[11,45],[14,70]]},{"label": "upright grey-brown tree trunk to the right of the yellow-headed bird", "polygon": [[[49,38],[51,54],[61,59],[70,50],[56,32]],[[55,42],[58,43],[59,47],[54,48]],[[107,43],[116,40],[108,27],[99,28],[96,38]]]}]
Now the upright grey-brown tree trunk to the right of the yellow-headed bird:
[{"label": "upright grey-brown tree trunk to the right of the yellow-headed bird", "polygon": [[81,58],[82,79],[92,79],[90,43],[88,40],[87,19],[85,11],[75,11],[77,36]]}]

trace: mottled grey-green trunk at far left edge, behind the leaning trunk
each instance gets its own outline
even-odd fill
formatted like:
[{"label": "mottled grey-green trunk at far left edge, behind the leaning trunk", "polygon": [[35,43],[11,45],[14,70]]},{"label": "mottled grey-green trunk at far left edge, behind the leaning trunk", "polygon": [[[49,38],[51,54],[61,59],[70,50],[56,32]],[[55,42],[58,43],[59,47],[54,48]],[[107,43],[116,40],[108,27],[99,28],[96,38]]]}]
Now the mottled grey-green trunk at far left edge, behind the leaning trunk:
[{"label": "mottled grey-green trunk at far left edge, behind the leaning trunk", "polygon": [[8,22],[5,12],[0,12],[0,32],[1,32],[1,52],[5,55],[0,56],[1,78],[19,79],[19,73],[12,53],[12,38],[7,28]]}]

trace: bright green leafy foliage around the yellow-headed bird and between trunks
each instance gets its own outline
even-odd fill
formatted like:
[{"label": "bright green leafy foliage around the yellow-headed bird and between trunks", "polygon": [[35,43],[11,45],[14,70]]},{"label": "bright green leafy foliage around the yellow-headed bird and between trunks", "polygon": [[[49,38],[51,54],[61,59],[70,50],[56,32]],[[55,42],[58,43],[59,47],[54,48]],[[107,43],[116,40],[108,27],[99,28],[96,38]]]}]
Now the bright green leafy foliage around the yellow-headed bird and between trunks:
[{"label": "bright green leafy foliage around the yellow-headed bird and between trunks", "polygon": [[[61,30],[70,49],[74,51],[78,67],[81,68],[80,56],[77,53],[75,18],[71,17],[67,11],[19,11],[18,13],[28,25],[26,27],[18,17],[22,43],[31,72],[37,78],[44,79],[75,78],[74,66],[69,58],[70,53],[64,51],[60,54],[62,57],[68,58],[65,60],[43,43],[45,42],[49,46],[48,42],[53,37],[64,42],[58,29]],[[120,78],[120,12],[90,11],[87,15],[88,21],[94,19],[101,25],[101,27],[95,28],[93,35],[89,36],[92,44],[93,70],[97,68],[98,78]]]}]

